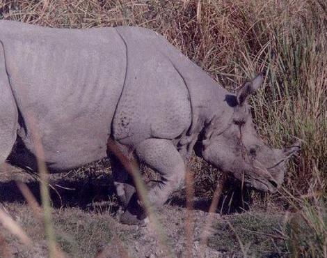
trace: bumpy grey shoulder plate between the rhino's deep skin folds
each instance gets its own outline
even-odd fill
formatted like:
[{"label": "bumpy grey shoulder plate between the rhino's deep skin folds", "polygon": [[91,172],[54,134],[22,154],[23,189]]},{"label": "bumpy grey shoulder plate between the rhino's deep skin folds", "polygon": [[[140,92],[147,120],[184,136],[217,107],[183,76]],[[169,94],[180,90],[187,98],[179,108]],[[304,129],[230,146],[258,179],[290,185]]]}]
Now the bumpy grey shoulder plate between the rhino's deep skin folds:
[{"label": "bumpy grey shoulder plate between the rhino's deep skin folds", "polygon": [[189,92],[153,31],[118,27],[126,47],[122,96],[113,119],[113,137],[135,145],[150,137],[174,139],[191,124]]}]

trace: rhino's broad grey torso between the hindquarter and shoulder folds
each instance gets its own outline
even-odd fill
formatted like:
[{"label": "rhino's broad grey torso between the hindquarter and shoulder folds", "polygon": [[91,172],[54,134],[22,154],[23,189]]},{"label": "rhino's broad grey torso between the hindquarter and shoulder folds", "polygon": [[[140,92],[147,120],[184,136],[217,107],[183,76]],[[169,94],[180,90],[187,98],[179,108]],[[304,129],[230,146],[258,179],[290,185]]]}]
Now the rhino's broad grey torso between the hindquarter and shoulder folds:
[{"label": "rhino's broad grey torso between the hindquarter and shoulder folds", "polygon": [[122,91],[126,52],[115,29],[49,29],[0,22],[7,72],[33,153],[37,130],[50,168],[67,169],[106,156]]}]

